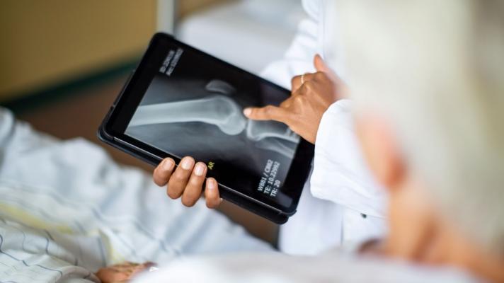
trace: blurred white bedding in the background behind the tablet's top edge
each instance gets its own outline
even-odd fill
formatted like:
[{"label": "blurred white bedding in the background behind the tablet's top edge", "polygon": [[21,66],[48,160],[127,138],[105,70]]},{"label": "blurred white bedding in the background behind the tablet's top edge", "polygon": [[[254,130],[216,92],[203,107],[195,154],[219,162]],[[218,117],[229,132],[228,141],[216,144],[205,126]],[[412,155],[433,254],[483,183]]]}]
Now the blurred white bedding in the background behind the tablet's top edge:
[{"label": "blurred white bedding in the background behind the tablet's top edge", "polygon": [[227,1],[182,18],[175,34],[183,42],[258,74],[282,57],[303,17],[297,0]]}]

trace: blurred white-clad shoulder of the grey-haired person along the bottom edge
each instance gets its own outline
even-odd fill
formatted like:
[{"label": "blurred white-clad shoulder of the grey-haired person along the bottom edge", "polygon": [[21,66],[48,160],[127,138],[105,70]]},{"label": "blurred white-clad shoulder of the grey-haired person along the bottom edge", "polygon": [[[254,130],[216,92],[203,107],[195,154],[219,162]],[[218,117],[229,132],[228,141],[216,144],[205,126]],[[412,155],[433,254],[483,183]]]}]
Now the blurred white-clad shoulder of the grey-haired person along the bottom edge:
[{"label": "blurred white-clad shoulder of the grey-haired person along the bottom edge", "polygon": [[329,253],[299,257],[241,253],[186,258],[135,282],[476,282],[457,270]]}]

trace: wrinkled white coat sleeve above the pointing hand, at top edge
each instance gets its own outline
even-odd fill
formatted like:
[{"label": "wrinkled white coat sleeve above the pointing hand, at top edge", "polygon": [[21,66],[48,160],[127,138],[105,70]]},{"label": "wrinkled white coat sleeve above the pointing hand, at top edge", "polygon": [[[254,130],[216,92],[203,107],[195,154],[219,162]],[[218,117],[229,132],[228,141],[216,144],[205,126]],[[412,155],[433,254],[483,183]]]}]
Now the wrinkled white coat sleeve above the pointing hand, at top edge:
[{"label": "wrinkled white coat sleeve above the pointing hand, at top edge", "polygon": [[321,54],[321,0],[303,0],[307,18],[302,20],[285,56],[269,64],[261,73],[265,79],[290,89],[293,76],[314,72],[313,59]]}]

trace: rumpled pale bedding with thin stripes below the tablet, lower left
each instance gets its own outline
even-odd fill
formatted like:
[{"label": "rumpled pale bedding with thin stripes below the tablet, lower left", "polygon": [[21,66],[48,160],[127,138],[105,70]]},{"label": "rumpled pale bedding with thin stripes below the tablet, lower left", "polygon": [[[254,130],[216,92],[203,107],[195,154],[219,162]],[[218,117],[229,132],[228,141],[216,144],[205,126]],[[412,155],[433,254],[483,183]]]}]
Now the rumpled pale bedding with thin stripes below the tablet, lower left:
[{"label": "rumpled pale bedding with thin stripes below the tablet, lower left", "polygon": [[0,282],[98,282],[124,261],[272,250],[219,212],[184,207],[84,139],[59,141],[0,108]]}]

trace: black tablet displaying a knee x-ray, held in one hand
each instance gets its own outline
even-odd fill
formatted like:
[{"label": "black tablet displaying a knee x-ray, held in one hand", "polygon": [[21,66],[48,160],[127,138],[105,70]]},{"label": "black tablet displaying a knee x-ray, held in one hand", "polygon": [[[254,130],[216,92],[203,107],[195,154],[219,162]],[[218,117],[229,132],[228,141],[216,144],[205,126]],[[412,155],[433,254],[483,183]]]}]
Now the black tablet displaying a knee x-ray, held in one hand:
[{"label": "black tablet displaying a knee x-ray, held in one hand", "polygon": [[[244,54],[244,56],[247,56]],[[290,91],[171,35],[157,33],[98,129],[102,141],[157,165],[193,156],[225,200],[277,224],[296,212],[314,146],[246,107],[279,105]]]}]

